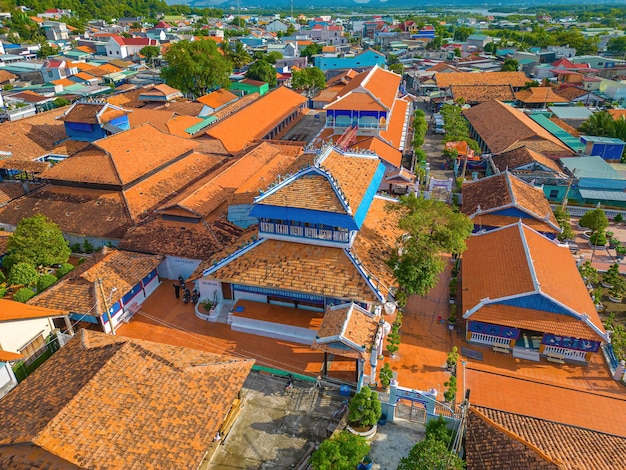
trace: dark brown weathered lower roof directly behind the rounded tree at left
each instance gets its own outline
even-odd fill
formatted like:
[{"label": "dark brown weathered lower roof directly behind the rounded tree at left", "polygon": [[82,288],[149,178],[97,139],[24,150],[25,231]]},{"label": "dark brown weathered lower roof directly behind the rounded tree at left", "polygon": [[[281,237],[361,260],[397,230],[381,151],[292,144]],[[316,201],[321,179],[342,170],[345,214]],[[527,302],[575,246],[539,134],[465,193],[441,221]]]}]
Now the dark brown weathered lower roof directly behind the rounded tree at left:
[{"label": "dark brown weathered lower roof directly behind the rounded tree at left", "polygon": [[0,209],[2,221],[17,225],[44,214],[64,232],[120,239],[131,224],[121,192],[47,185]]}]

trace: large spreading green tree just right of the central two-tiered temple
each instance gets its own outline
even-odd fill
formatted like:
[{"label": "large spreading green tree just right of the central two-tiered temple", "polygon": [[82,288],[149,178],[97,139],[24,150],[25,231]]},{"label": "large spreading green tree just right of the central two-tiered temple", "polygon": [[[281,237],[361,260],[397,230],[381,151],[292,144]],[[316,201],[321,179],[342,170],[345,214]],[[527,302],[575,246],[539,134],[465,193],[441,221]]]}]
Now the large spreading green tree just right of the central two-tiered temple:
[{"label": "large spreading green tree just right of the central two-tiered temple", "polygon": [[442,201],[415,194],[388,204],[400,211],[399,227],[405,232],[388,260],[400,287],[408,294],[426,295],[445,266],[444,254],[461,254],[473,229],[472,221]]}]

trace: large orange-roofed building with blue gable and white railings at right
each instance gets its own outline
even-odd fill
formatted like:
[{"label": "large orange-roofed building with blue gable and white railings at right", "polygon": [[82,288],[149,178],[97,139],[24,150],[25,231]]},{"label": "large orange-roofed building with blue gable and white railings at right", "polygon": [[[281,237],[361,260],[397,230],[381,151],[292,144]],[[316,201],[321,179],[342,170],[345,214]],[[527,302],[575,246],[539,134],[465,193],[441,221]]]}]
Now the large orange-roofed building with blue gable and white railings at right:
[{"label": "large orange-roofed building with blue gable and white railings at right", "polygon": [[609,341],[569,248],[522,221],[470,237],[461,279],[470,344],[535,362],[588,364]]}]

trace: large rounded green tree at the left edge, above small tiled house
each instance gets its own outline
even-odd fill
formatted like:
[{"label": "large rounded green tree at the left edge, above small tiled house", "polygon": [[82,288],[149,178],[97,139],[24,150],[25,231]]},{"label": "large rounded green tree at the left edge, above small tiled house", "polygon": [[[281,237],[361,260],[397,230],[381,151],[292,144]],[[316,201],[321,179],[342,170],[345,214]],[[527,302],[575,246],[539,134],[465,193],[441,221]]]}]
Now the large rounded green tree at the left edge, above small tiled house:
[{"label": "large rounded green tree at the left edge, above small tiled house", "polygon": [[65,263],[70,257],[70,247],[59,226],[41,214],[26,217],[17,224],[9,236],[7,251],[14,262],[33,266]]}]

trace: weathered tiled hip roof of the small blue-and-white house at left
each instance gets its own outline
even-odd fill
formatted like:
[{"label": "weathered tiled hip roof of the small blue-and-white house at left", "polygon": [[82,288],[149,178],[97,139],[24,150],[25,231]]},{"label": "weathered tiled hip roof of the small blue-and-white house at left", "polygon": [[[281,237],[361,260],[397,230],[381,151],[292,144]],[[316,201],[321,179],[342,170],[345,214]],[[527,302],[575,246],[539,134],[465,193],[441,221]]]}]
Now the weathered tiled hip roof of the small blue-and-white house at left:
[{"label": "weathered tiled hip roof of the small blue-and-white house at left", "polygon": [[[77,266],[51,287],[28,301],[29,305],[67,309],[74,313],[102,316],[163,261],[162,255],[103,248],[92,258]],[[102,289],[98,282],[102,280]],[[110,300],[108,298],[111,293]]]}]

